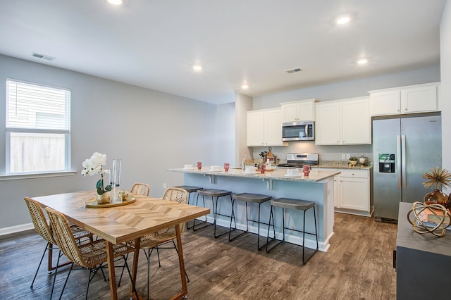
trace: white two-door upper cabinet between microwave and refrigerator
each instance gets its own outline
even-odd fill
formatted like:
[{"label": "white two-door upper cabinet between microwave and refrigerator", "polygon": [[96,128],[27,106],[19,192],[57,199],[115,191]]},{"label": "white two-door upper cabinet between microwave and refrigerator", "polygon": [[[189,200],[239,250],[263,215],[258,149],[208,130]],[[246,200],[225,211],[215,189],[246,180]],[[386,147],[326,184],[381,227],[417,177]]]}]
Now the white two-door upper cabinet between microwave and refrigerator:
[{"label": "white two-door upper cabinet between microwave and refrigerator", "polygon": [[320,102],[315,112],[315,144],[371,144],[368,97]]}]

